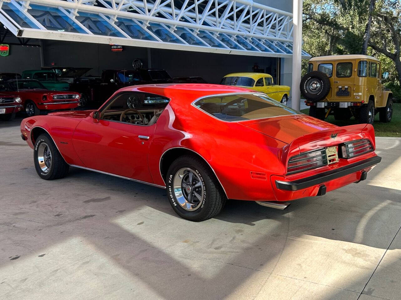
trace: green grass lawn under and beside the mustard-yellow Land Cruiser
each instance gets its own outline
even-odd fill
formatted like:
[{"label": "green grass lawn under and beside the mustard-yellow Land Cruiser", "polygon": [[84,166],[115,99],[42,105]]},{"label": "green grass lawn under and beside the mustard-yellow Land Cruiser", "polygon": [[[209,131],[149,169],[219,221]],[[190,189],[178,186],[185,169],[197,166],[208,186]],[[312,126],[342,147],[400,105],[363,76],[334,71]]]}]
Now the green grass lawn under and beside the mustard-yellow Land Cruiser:
[{"label": "green grass lawn under and beside the mustard-yellow Land Cruiser", "polygon": [[[390,123],[379,122],[379,114],[375,116],[373,127],[375,128],[376,136],[401,137],[401,103],[394,103],[393,109],[393,118],[391,119]],[[301,112],[308,114],[309,108],[303,109]],[[334,116],[328,116],[325,121],[338,126],[358,124],[354,118],[351,118],[349,121],[336,121],[334,120]]]}]

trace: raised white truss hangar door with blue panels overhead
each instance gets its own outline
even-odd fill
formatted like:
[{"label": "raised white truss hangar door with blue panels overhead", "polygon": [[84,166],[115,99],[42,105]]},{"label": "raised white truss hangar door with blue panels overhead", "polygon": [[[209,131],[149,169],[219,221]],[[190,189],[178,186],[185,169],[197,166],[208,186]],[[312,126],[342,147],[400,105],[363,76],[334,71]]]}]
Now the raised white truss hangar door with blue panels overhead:
[{"label": "raised white truss hangar door with blue panels overhead", "polygon": [[25,38],[292,56],[292,14],[249,0],[0,0],[0,22]]}]

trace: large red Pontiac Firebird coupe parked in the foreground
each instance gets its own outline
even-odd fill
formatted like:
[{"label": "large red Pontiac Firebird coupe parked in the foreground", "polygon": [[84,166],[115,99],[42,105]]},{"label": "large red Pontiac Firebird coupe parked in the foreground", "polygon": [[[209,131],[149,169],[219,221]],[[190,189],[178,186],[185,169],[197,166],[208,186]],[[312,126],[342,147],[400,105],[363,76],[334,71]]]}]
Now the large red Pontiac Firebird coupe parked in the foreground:
[{"label": "large red Pontiac Firebird coupe parked in the foreground", "polygon": [[74,166],[166,188],[192,221],[212,218],[227,199],[283,209],[365,180],[381,160],[369,124],[338,127],[213,84],[129,86],[99,110],[26,118],[21,134],[41,178]]}]

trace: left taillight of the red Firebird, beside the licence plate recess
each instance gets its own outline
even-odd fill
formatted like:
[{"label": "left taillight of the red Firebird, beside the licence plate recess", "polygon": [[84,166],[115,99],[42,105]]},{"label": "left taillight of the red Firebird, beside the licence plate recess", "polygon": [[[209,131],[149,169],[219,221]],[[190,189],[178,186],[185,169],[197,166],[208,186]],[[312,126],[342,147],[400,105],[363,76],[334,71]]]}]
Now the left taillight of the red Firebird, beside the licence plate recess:
[{"label": "left taillight of the red Firebird, beside the licence plate recess", "polygon": [[288,160],[287,174],[294,174],[327,165],[326,149],[313,150]]}]

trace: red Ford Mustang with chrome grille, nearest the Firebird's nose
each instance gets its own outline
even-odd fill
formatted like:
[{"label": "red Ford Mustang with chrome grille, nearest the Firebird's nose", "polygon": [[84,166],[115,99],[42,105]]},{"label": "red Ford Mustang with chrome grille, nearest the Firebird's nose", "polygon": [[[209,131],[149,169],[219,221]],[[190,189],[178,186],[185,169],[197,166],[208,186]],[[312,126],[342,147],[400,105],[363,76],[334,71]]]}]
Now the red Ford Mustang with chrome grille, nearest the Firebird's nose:
[{"label": "red Ford Mustang with chrome grille, nearest the Firebird's nose", "polygon": [[79,105],[81,97],[77,92],[47,90],[34,79],[1,80],[0,93],[18,96],[28,117],[39,115],[41,111],[71,110]]}]

